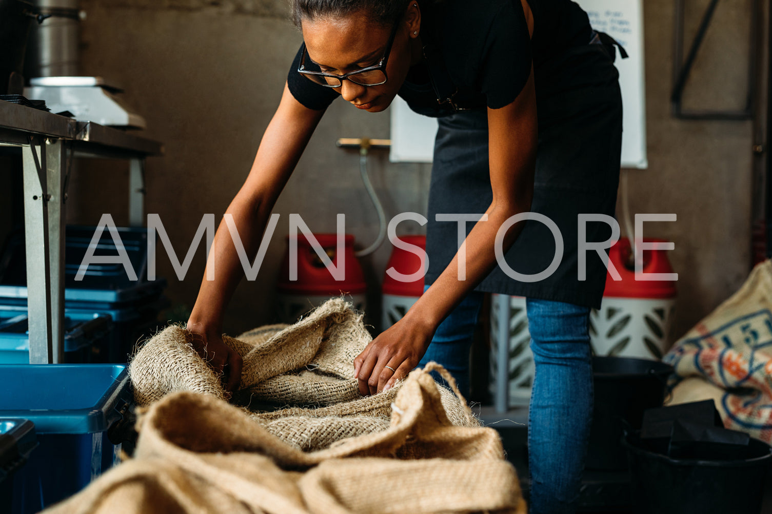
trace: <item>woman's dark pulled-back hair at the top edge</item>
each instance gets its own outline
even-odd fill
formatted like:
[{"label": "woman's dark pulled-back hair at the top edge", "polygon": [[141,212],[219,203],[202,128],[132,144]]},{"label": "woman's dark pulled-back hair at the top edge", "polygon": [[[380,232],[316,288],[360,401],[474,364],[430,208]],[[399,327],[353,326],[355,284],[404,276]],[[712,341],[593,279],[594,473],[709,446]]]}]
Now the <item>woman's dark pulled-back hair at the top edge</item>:
[{"label": "woman's dark pulled-back hair at the top edge", "polygon": [[391,25],[409,2],[416,0],[290,0],[289,8],[298,29],[303,19],[342,18],[356,12],[366,12],[371,21],[381,25]]}]

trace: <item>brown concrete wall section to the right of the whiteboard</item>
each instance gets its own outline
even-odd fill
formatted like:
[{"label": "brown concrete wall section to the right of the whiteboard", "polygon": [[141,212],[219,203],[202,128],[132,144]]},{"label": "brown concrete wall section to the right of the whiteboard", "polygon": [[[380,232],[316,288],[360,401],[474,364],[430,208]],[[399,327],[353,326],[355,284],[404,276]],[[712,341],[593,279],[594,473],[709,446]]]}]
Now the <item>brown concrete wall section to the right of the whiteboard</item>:
[{"label": "brown concrete wall section to the right of the whiteboard", "polygon": [[[750,271],[753,123],[672,116],[673,4],[644,2],[649,167],[626,173],[632,213],[678,215],[678,221],[652,223],[645,231],[675,242],[669,257],[679,272],[672,330],[677,337],[730,296]],[[687,46],[707,4],[686,2]],[[685,108],[744,107],[750,18],[750,0],[719,3],[684,92]]]}]

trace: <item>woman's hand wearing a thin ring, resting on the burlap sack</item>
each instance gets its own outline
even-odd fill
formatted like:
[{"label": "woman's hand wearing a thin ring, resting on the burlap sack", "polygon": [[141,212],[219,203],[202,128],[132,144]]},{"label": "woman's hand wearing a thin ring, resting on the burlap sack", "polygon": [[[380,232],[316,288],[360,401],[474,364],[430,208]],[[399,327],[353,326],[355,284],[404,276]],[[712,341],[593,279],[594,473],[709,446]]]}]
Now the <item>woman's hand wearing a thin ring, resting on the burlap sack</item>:
[{"label": "woman's hand wearing a thin ring, resting on the burlap sack", "polygon": [[372,340],[354,359],[359,392],[380,393],[407,377],[426,353],[434,330],[403,318]]}]

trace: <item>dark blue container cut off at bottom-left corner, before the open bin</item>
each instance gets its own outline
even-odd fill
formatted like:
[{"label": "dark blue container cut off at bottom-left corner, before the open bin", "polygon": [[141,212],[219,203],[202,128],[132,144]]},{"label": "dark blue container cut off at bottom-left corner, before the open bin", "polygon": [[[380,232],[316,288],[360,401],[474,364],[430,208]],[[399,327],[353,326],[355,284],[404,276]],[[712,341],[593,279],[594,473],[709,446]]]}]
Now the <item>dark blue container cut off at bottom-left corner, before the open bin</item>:
[{"label": "dark blue container cut off at bottom-left corner, before the open bin", "polygon": [[[13,475],[36,448],[35,425],[26,419],[0,420],[0,502],[10,506],[13,499]],[[0,512],[5,512],[0,505]]]}]

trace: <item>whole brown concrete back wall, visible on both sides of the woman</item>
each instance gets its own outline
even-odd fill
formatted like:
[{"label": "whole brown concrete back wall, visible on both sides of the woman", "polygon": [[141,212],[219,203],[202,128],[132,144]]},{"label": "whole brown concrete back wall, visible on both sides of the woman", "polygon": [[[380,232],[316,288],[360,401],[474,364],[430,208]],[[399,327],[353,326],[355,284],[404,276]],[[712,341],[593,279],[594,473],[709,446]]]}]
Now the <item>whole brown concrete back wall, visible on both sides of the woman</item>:
[{"label": "whole brown concrete back wall, visible on both sides of the woman", "polygon": [[[688,27],[706,4],[688,2]],[[190,244],[201,215],[222,214],[249,171],[276,104],[300,34],[286,21],[281,0],[151,2],[82,0],[81,72],[123,84],[126,99],[147,118],[147,135],[164,141],[164,157],[147,162],[147,212],[161,215],[178,254]],[[721,2],[686,95],[689,107],[736,107],[746,84],[750,0]],[[645,1],[648,117],[647,171],[629,172],[632,212],[675,212],[678,221],[647,225],[647,235],[669,238],[680,274],[680,335],[729,296],[750,269],[750,122],[676,120],[670,114],[671,0]],[[738,37],[737,35],[743,35]],[[689,40],[689,38],[687,38]],[[334,213],[367,245],[377,219],[364,194],[357,154],[335,147],[338,137],[388,137],[388,114],[361,113],[334,103],[313,137],[276,211],[283,215],[264,268],[242,283],[225,329],[271,320],[273,284],[283,252],[286,215],[298,212],[315,231],[333,231]],[[388,164],[374,154],[371,174],[387,215],[425,214],[429,168]],[[126,166],[81,163],[71,185],[69,220],[96,223],[102,212],[126,221]],[[406,232],[417,227],[405,227]],[[373,285],[390,249],[364,264]],[[192,306],[204,265],[199,251],[184,281],[168,259],[159,271],[169,296]]]}]

